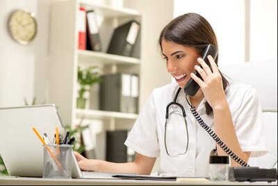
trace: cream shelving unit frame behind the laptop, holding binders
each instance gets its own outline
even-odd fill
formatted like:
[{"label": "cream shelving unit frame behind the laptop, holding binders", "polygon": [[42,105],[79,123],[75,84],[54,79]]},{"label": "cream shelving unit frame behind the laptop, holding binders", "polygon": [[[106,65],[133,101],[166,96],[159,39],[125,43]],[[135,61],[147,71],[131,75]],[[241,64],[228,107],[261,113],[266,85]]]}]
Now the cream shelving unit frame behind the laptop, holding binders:
[{"label": "cream shelving unit frame behind the laptop, holding binders", "polygon": [[[99,23],[99,36],[103,51],[93,52],[78,49],[78,11],[79,6],[94,10]],[[77,67],[97,65],[104,73],[135,72],[140,77],[140,59],[106,54],[113,29],[128,21],[141,21],[142,15],[128,8],[114,8],[91,1],[55,1],[51,4],[50,41],[50,82],[49,101],[56,103],[66,125],[74,125],[85,116],[86,119],[101,119],[117,125],[116,121],[134,123],[138,114],[126,114],[91,109],[76,109]],[[70,29],[69,29],[70,28]]]}]

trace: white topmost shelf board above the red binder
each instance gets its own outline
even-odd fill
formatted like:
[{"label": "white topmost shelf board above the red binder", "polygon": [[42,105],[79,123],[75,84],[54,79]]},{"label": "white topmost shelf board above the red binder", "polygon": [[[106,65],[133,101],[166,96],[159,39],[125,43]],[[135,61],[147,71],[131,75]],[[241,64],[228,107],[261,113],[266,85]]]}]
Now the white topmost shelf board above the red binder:
[{"label": "white topmost shelf board above the red binder", "polygon": [[129,8],[117,8],[113,6],[101,5],[97,3],[92,3],[90,1],[81,0],[81,6],[86,10],[95,10],[98,15],[104,17],[130,17],[130,16],[141,16],[141,14]]}]

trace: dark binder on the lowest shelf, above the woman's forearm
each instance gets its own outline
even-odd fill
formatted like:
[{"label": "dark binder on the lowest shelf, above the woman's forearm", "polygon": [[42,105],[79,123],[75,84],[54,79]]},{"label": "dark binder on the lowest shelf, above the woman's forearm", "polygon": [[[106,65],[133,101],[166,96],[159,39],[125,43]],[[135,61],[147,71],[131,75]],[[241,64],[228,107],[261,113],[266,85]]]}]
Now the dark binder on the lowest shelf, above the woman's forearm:
[{"label": "dark binder on the lowest shelf, above the woman's forearm", "polygon": [[106,161],[124,163],[127,160],[127,130],[106,131]]}]

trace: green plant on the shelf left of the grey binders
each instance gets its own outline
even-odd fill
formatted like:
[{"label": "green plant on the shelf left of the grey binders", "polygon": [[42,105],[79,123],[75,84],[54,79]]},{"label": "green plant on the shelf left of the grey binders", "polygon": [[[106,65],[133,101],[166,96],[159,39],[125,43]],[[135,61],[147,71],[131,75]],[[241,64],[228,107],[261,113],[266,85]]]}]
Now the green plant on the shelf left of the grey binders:
[{"label": "green plant on the shelf left of the grey binders", "polygon": [[90,86],[92,86],[92,84],[101,82],[102,80],[99,75],[99,70],[96,66],[90,66],[85,69],[82,69],[79,66],[77,78],[80,85],[79,98],[84,97],[85,91],[90,91]]}]

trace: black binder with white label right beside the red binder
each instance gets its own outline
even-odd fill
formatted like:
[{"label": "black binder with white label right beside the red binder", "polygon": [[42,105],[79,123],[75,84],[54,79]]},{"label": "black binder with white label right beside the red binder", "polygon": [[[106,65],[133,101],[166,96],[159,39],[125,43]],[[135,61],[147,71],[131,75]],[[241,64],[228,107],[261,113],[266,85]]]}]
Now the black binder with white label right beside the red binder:
[{"label": "black binder with white label right beside the red binder", "polygon": [[101,40],[99,37],[99,26],[97,25],[97,17],[94,10],[88,10],[87,17],[87,32],[88,45],[87,49],[101,52]]}]

